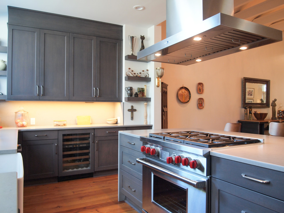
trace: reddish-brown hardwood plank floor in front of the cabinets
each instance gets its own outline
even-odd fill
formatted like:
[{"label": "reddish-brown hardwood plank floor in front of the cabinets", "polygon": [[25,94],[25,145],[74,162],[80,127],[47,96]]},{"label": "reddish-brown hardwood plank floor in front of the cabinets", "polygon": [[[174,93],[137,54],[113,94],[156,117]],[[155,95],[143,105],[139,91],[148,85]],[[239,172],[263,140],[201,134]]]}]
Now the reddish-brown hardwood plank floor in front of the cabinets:
[{"label": "reddish-brown hardwood plank floor in front of the cabinets", "polygon": [[24,187],[24,213],[29,212],[137,213],[118,202],[118,175]]}]

